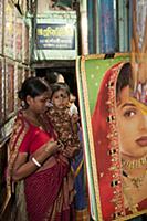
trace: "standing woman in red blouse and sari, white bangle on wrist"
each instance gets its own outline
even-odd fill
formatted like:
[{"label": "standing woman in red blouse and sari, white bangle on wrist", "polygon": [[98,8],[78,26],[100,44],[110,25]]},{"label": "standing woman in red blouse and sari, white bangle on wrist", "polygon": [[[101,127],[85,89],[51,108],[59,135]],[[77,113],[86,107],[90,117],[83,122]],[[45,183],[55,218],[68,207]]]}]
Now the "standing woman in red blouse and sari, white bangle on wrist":
[{"label": "standing woman in red blouse and sari, white bangle on wrist", "polygon": [[44,115],[50,95],[49,86],[38,77],[25,80],[19,92],[23,107],[9,144],[7,176],[9,190],[10,186],[15,189],[19,221],[74,220],[69,164],[74,149],[67,147],[66,158],[59,158],[60,145]]}]

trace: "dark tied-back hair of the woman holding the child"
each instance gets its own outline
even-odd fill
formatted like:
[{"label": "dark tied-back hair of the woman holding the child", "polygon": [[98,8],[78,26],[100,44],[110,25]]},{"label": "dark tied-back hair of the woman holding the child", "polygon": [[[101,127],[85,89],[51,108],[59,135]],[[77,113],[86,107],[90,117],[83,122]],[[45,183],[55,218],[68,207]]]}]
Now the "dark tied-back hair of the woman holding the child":
[{"label": "dark tied-back hair of the woman holding the child", "polygon": [[50,92],[50,86],[39,77],[29,77],[27,78],[21,86],[21,90],[18,92],[19,98],[23,102],[23,108],[28,107],[27,96],[32,98],[42,95],[44,92]]}]

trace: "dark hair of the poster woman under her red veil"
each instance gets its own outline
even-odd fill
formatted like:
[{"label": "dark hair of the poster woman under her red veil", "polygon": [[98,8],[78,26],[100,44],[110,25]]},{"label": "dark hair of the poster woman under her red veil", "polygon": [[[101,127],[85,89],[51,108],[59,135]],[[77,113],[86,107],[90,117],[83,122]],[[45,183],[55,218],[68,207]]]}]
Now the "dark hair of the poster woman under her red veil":
[{"label": "dark hair of the poster woman under her red veil", "polygon": [[125,63],[120,70],[120,73],[116,83],[116,95],[118,97],[120,91],[127,85],[132,86],[132,65],[130,63]]}]

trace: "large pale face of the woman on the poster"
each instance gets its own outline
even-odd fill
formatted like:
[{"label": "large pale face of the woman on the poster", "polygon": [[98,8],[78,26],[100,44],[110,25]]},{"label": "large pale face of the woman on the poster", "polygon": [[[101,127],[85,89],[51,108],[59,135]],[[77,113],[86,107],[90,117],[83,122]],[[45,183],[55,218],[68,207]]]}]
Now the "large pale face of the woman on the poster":
[{"label": "large pale face of the woman on the poster", "polygon": [[117,102],[120,151],[129,158],[147,155],[147,115],[129,99],[129,86],[122,90]]}]

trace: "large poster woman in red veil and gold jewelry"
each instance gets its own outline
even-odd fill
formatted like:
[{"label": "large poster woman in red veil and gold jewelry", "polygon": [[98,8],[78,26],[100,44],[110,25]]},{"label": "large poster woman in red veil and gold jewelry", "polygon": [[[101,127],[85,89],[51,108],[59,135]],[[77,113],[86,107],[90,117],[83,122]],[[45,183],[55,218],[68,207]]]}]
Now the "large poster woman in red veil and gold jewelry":
[{"label": "large poster woman in red veil and gold jewelry", "polygon": [[130,75],[129,63],[106,72],[92,118],[105,221],[147,209],[147,107],[132,97]]}]

